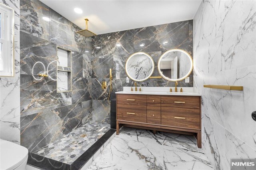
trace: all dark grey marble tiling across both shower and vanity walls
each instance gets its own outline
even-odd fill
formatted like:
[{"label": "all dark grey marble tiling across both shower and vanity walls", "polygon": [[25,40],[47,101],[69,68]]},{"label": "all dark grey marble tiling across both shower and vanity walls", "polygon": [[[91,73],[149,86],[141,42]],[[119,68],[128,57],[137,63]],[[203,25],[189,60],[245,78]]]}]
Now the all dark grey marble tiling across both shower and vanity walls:
[{"label": "all dark grey marble tiling across both shower and vanity walls", "polygon": [[[106,101],[110,89],[109,69],[113,69],[113,91],[132,86],[133,81],[126,83],[124,69],[132,53],[144,51],[153,57],[152,76],[159,76],[157,62],[168,49],[180,48],[192,55],[192,20],[85,38],[75,33],[80,30],[78,26],[39,0],[21,0],[20,25],[21,144],[30,151],[90,119],[109,122],[110,104]],[[164,41],[169,43],[163,44]],[[141,47],[141,43],[145,46]],[[73,52],[72,92],[56,91],[57,46]],[[42,64],[36,62],[49,65],[50,77],[36,80],[40,79],[38,73],[44,73]],[[179,86],[192,87],[192,78],[191,74],[190,83],[181,81]],[[102,81],[107,81],[105,90],[101,89]],[[174,83],[148,79],[138,85],[166,87]]]}]

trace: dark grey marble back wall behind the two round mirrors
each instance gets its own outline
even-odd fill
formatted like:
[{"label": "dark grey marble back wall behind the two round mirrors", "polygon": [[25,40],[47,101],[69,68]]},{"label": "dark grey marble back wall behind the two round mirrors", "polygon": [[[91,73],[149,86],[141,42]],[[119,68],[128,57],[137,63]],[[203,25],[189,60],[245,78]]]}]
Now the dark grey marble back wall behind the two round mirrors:
[{"label": "dark grey marble back wall behind the two round mirrors", "polygon": [[[112,69],[113,91],[122,91],[124,86],[132,86],[134,82],[126,83],[126,60],[132,53],[146,52],[154,60],[155,68],[152,76],[160,76],[157,69],[158,59],[165,51],[174,48],[180,48],[188,51],[192,55],[193,21],[182,21],[158,26],[138,28],[101,34],[92,37],[92,117],[93,119],[106,121],[106,113],[110,114],[110,104],[105,102],[108,99],[110,90],[109,69]],[[163,42],[168,41],[168,44]],[[144,47],[140,44],[145,43]],[[116,44],[120,44],[117,46]],[[100,48],[96,48],[100,47]],[[102,81],[107,81],[107,89],[102,90]],[[148,79],[138,82],[138,86],[147,87],[170,87],[174,82],[164,79]],[[193,74],[190,74],[190,83],[180,81],[180,87],[193,87]],[[98,101],[97,101],[98,100]],[[94,108],[96,107],[96,108]],[[98,111],[100,110],[100,111]]]}]

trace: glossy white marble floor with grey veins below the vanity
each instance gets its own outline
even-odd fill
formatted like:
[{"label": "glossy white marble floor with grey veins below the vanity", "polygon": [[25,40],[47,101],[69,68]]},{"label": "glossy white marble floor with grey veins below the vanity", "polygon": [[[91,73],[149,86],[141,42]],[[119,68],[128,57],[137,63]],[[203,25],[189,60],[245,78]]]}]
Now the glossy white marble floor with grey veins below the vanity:
[{"label": "glossy white marble floor with grey veins below the vanity", "polygon": [[124,127],[88,170],[212,170],[194,136]]}]

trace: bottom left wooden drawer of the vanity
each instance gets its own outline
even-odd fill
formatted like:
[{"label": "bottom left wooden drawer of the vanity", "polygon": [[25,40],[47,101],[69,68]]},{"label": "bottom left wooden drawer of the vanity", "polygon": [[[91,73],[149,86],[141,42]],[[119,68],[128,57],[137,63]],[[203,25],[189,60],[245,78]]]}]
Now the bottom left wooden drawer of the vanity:
[{"label": "bottom left wooden drawer of the vanity", "polygon": [[146,123],[146,114],[146,106],[117,105],[117,120]]}]

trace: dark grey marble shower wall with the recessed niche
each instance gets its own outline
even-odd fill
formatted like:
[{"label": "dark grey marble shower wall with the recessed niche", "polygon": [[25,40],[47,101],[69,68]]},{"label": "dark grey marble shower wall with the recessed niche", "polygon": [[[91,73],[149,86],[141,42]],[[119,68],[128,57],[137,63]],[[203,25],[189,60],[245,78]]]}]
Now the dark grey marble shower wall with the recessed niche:
[{"label": "dark grey marble shower wall with the recessed niche", "polygon": [[[92,120],[92,39],[39,0],[21,0],[20,16],[20,138],[33,152]],[[70,92],[57,92],[58,46],[72,51]]]}]

